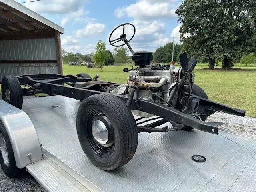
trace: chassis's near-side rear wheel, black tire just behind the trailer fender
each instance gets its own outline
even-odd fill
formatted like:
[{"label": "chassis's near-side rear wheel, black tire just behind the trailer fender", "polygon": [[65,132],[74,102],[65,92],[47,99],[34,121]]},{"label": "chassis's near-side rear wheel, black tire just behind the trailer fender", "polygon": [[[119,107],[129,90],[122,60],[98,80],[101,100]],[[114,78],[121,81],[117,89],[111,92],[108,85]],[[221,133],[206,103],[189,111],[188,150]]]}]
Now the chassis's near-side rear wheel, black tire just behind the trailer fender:
[{"label": "chassis's near-side rear wheel, black tire just behind the trailer fender", "polygon": [[2,99],[9,104],[22,109],[23,94],[18,78],[12,75],[2,79]]}]

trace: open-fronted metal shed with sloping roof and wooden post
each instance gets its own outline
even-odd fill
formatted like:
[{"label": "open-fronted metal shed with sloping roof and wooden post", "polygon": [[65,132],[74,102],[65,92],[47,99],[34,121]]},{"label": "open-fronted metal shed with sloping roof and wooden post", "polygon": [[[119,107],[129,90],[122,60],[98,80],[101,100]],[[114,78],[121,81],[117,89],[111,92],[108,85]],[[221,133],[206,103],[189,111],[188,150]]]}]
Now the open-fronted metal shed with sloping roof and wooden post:
[{"label": "open-fronted metal shed with sloping roof and wooden post", "polygon": [[6,75],[63,74],[64,28],[14,0],[0,0],[0,80]]}]

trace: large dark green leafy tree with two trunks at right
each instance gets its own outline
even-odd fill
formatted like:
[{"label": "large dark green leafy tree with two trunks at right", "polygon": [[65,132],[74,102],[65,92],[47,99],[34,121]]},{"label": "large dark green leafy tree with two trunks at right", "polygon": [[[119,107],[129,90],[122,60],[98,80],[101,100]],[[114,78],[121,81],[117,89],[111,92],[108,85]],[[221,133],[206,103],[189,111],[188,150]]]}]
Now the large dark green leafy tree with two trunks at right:
[{"label": "large dark green leafy tree with two trunks at right", "polygon": [[184,0],[176,10],[182,23],[180,38],[193,56],[222,60],[232,67],[234,58],[256,50],[256,0]]}]

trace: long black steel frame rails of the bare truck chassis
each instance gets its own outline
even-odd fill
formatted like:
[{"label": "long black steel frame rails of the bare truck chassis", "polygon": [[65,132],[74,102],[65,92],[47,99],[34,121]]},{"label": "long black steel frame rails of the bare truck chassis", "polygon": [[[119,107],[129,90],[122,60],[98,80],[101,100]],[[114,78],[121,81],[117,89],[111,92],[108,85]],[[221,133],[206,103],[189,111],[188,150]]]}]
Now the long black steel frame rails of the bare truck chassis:
[{"label": "long black steel frame rails of the bare truck chassis", "polygon": [[[78,78],[72,75],[63,76],[63,75],[56,75],[56,74],[40,74],[40,75],[23,75],[20,77],[17,76],[17,78],[20,84],[29,84],[32,87],[36,85],[36,89],[41,90],[43,92],[47,92],[54,95],[62,95],[62,96],[74,98],[77,100],[84,100],[91,95],[104,93],[104,92],[95,91],[95,90],[61,85],[66,82],[74,83],[74,82],[86,82],[86,81],[92,80],[88,78]],[[43,79],[54,79],[54,80],[49,80],[46,82],[38,81]],[[116,96],[121,100],[123,100],[125,103],[128,100],[128,96],[122,96],[122,95],[116,95]],[[210,108],[212,110],[222,111],[230,114],[235,114],[238,116],[245,115],[244,110],[230,108],[228,106],[225,106],[216,102],[212,102],[210,100],[200,98],[197,96],[194,96],[194,97],[200,100],[200,105]],[[223,123],[204,122],[204,121],[198,120],[194,116],[184,114],[179,110],[176,110],[168,106],[164,106],[163,104],[159,104],[156,102],[151,102],[147,100],[138,100],[138,104],[140,108],[138,108],[138,105],[136,104],[136,98],[134,98],[132,100],[130,108],[132,110],[142,110],[143,112],[160,116],[161,118],[164,118],[164,121],[168,120],[168,121],[176,122],[177,124],[187,125],[192,128],[196,128],[198,130],[202,130],[205,132],[218,134],[218,127],[223,124]]]}]

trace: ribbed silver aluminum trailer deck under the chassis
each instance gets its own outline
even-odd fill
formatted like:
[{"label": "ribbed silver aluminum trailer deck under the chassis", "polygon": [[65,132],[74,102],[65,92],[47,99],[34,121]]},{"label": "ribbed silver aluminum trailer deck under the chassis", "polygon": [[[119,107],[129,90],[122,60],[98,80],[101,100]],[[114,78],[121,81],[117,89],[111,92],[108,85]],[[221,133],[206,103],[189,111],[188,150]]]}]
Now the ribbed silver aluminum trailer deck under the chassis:
[{"label": "ribbed silver aluminum trailer deck under the chassis", "polygon": [[[100,170],[78,141],[80,104],[63,96],[24,100],[22,110],[34,124],[44,155],[26,168],[48,191],[256,191],[256,139],[224,131],[140,133],[128,164],[113,172]],[[194,154],[206,162],[193,161]]]}]

